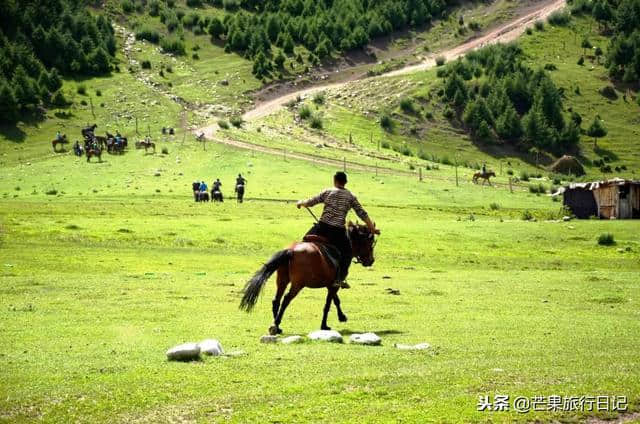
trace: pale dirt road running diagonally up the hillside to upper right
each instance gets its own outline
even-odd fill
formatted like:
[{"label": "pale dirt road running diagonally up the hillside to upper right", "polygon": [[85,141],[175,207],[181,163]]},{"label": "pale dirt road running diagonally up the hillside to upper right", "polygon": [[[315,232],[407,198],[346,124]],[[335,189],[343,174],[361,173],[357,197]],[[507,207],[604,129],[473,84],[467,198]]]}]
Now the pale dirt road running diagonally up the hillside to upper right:
[{"label": "pale dirt road running diagonally up the hillside to upper right", "polygon": [[[444,56],[447,61],[451,61],[460,56],[463,56],[465,53],[471,50],[477,49],[487,44],[507,43],[513,41],[518,38],[526,30],[527,27],[532,26],[537,20],[543,20],[547,18],[551,13],[564,7],[564,5],[565,0],[541,1],[538,5],[538,8],[534,9],[524,16],[519,17],[515,21],[507,22],[504,25],[501,25],[500,27],[486,35],[474,38],[451,49],[444,50],[439,53],[434,53],[430,55],[428,59],[416,65],[406,66],[404,68],[397,69],[395,71],[391,71],[374,78],[385,78],[426,70],[435,66],[435,58],[437,56]],[[280,107],[284,106],[286,103],[295,100],[298,96],[305,96],[322,90],[339,88],[347,83],[348,82],[340,82],[334,84],[317,85],[293,91],[291,93],[285,94],[284,96],[257,105],[255,108],[247,111],[243,115],[243,119],[245,121],[251,121],[268,116],[277,111]],[[216,130],[217,124],[213,124],[199,129],[198,133],[204,132],[207,137],[211,137],[216,132]]]}]

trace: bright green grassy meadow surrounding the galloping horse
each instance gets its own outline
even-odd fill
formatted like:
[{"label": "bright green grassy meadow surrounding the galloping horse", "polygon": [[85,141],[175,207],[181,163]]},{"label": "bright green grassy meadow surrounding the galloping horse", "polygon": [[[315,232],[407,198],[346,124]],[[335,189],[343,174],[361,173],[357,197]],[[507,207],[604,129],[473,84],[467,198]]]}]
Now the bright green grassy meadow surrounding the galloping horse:
[{"label": "bright green grassy meadow surrounding the galloping horse", "polygon": [[[350,172],[383,234],[375,266],[354,265],[342,292],[349,322],[329,324],[377,332],[383,346],[263,345],[274,284],[251,315],[237,309],[240,290],[311,218],[284,201],[196,204],[190,183],[219,176],[230,196],[243,172],[250,198],[295,200],[333,169],[193,141],[162,147],[169,154],[101,164],[48,153],[26,165],[6,152],[0,420],[582,419],[476,410],[496,393],[626,395],[638,409],[636,222],[547,220],[561,213],[547,196],[456,187],[446,167],[449,179],[426,182]],[[603,232],[617,245],[598,246]],[[286,334],[318,328],[323,299],[304,290]],[[166,361],[170,346],[206,337],[244,355]],[[393,348],[424,341],[433,348]]]}]

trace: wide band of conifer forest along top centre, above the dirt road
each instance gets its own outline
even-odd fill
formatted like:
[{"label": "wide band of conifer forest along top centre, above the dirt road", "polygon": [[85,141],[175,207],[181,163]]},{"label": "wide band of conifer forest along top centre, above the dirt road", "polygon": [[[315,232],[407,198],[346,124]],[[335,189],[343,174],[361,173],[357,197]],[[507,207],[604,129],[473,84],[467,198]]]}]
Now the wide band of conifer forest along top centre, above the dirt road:
[{"label": "wide band of conifer forest along top centre, above the dirt road", "polygon": [[[159,16],[172,33],[180,26],[196,34],[207,32],[225,49],[254,62],[258,78],[269,75],[302,45],[319,63],[332,52],[361,48],[375,37],[419,27],[441,16],[451,0],[188,0],[188,6],[211,4],[228,13],[223,19],[185,13],[173,0],[123,0],[123,10],[146,9]],[[146,3],[146,2],[145,2]],[[127,4],[127,6],[124,6]],[[146,34],[157,39],[157,34]],[[146,38],[146,37],[145,37]],[[151,40],[150,40],[151,41]],[[157,41],[155,41],[157,42]],[[274,52],[273,46],[279,51]]]}]

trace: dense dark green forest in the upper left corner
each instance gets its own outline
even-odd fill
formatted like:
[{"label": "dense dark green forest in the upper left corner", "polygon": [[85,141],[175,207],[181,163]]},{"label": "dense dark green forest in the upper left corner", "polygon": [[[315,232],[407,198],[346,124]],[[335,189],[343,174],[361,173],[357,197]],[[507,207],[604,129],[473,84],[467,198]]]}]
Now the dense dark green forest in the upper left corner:
[{"label": "dense dark green forest in the upper left corner", "polygon": [[65,105],[61,76],[108,73],[115,51],[110,22],[81,0],[0,1],[0,121]]}]

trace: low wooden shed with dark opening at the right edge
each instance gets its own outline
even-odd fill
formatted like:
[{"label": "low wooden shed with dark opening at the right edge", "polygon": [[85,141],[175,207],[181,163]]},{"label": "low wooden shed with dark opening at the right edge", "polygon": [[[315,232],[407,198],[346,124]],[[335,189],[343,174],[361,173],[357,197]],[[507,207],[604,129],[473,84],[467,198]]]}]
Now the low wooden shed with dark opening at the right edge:
[{"label": "low wooden shed with dark opening at the right edge", "polygon": [[615,178],[562,187],[563,203],[577,218],[640,218],[640,181]]}]

